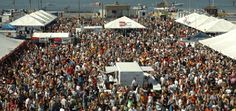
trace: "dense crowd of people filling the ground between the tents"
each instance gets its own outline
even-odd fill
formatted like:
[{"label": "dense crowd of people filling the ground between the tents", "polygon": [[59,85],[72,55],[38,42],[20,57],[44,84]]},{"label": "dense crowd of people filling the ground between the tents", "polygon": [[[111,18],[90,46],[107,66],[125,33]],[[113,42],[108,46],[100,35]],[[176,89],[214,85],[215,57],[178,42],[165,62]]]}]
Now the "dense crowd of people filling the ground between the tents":
[{"label": "dense crowd of people filling the ground between the tents", "polygon": [[[38,111],[231,111],[236,110],[236,61],[201,44],[183,45],[196,30],[173,19],[141,18],[147,29],[87,30],[77,44],[33,44],[4,68],[0,109]],[[90,21],[80,22],[91,24]],[[76,18],[59,18],[51,31],[75,33]],[[82,24],[82,23],[81,23]],[[111,84],[105,66],[136,61],[152,66],[149,81]],[[102,78],[102,79],[100,79]]]}]

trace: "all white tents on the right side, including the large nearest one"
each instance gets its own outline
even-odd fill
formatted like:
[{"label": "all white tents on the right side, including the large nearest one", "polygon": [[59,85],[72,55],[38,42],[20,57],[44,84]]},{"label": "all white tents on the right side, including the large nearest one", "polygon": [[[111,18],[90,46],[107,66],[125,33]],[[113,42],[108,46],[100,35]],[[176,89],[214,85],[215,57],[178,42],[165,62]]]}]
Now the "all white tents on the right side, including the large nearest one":
[{"label": "all white tents on the right side, including the large nearest one", "polygon": [[216,17],[192,13],[175,20],[204,33],[223,33],[199,42],[221,54],[236,60],[236,25]]}]

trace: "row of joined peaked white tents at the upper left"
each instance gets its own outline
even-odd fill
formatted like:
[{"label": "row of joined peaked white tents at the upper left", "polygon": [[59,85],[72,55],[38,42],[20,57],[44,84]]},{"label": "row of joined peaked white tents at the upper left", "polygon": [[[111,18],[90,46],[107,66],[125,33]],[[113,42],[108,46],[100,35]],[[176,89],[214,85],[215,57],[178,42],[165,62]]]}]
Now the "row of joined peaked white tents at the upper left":
[{"label": "row of joined peaked white tents at the upper left", "polygon": [[55,20],[57,16],[52,15],[44,10],[35,11],[31,14],[26,14],[10,24],[13,26],[31,26],[43,27]]}]

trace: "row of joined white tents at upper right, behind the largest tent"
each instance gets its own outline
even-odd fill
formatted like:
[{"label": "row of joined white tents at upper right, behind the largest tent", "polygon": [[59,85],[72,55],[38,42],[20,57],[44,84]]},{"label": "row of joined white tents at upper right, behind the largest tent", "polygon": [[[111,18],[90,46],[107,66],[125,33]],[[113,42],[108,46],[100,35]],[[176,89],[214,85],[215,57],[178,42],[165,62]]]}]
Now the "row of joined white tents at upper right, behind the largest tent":
[{"label": "row of joined white tents at upper right, behind the largest tent", "polygon": [[197,13],[189,14],[175,21],[205,33],[224,33],[236,28],[235,24],[227,20]]}]

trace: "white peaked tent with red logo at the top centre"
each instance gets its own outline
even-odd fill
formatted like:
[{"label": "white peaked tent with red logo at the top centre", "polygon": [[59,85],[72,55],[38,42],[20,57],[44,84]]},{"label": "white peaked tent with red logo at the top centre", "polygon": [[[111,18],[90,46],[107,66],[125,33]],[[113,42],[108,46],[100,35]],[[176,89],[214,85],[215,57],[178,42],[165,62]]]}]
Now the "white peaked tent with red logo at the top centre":
[{"label": "white peaked tent with red logo at the top centre", "polygon": [[105,24],[106,29],[143,29],[143,25],[124,16]]}]

